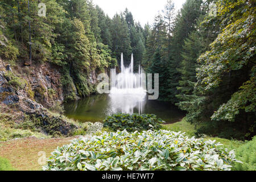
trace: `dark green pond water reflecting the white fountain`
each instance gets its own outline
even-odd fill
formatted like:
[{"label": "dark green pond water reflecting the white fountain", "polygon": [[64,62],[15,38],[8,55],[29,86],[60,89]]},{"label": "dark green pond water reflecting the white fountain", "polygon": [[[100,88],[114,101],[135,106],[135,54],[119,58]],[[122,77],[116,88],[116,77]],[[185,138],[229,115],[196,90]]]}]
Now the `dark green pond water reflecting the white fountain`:
[{"label": "dark green pond water reflecting the white fountain", "polygon": [[155,114],[166,123],[180,121],[185,113],[168,102],[147,100],[138,101],[134,96],[111,97],[108,94],[90,96],[79,101],[64,104],[65,115],[80,122],[102,121],[115,113]]}]

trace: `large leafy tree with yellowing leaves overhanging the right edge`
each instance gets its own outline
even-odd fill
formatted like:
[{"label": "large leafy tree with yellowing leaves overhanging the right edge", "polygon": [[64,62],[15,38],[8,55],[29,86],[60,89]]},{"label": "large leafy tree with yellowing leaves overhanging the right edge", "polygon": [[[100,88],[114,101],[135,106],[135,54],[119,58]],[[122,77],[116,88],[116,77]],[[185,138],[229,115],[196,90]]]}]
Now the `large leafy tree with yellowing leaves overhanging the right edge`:
[{"label": "large leafy tree with yellowing leaves overhanging the right edge", "polygon": [[[256,131],[253,4],[218,1],[217,16],[207,16],[201,23],[208,28],[214,20],[221,29],[198,59],[196,96],[187,103],[192,122],[212,119],[221,128],[223,121],[232,121],[237,133],[249,139]],[[228,130],[234,129],[232,125]]]}]

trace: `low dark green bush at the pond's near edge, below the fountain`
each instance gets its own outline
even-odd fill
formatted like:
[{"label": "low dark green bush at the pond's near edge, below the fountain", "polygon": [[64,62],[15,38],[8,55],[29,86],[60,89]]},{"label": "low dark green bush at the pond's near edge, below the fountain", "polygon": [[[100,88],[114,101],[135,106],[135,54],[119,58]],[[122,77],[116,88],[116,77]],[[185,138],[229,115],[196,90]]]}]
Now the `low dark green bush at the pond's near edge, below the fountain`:
[{"label": "low dark green bush at the pond's near edge, below the fountain", "polygon": [[164,121],[156,118],[154,114],[113,114],[106,117],[104,127],[117,130],[142,131],[142,130],[158,130]]}]

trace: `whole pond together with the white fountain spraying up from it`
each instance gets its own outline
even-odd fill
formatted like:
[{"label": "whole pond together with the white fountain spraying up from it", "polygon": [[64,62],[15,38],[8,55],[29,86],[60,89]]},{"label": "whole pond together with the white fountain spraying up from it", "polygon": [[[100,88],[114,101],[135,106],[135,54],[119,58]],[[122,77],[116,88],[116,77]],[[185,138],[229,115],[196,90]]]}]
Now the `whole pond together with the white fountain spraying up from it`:
[{"label": "whole pond together with the white fountain spraying up from it", "polygon": [[[65,113],[68,117],[79,119],[82,122],[96,122],[102,121],[108,115],[117,113],[156,114],[168,123],[176,122],[184,117],[183,111],[174,105],[147,98],[147,93],[151,92],[152,88],[148,89],[148,92],[146,91],[146,74],[144,74],[141,65],[139,65],[138,72],[134,73],[133,55],[131,55],[131,63],[128,68],[123,64],[122,55],[120,68],[120,73],[111,69],[111,88],[106,86],[106,93],[108,94],[98,94],[80,101],[67,103]],[[148,77],[147,79],[150,80]]]}]

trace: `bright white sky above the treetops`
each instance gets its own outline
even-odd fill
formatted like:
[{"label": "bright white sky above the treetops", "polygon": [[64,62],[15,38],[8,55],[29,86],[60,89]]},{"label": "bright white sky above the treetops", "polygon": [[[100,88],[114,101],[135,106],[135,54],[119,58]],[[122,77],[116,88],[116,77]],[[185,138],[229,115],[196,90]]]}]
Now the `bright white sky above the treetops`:
[{"label": "bright white sky above the treetops", "polygon": [[[106,14],[113,18],[116,13],[125,11],[125,8],[133,14],[136,22],[140,22],[142,26],[147,22],[152,24],[155,15],[164,9],[167,0],[93,0],[95,5],[101,7]],[[181,8],[185,0],[173,0],[175,9]]]}]

